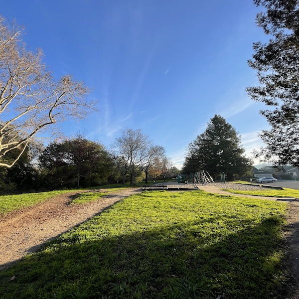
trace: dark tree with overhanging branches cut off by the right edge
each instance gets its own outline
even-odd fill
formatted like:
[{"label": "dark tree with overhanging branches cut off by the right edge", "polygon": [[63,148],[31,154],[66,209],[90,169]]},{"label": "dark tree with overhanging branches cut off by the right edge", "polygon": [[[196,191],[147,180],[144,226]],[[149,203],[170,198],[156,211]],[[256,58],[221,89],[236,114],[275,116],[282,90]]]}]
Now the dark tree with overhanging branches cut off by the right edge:
[{"label": "dark tree with overhanging branches cut off by the right edge", "polygon": [[260,86],[249,87],[250,97],[268,109],[260,111],[270,130],[260,137],[265,147],[256,151],[276,166],[299,166],[299,1],[254,0],[266,8],[257,15],[257,25],[269,42],[253,44],[249,66],[257,70]]}]

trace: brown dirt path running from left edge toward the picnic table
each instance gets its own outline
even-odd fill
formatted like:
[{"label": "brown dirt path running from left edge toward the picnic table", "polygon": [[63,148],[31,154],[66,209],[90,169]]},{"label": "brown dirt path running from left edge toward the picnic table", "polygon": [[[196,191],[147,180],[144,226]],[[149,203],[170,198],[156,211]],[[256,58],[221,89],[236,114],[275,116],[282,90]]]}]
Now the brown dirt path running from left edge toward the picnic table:
[{"label": "brown dirt path running from left edge toward the picnic table", "polygon": [[0,269],[38,251],[46,241],[140,191],[140,188],[128,188],[78,205],[68,203],[72,196],[82,191],[66,193],[0,217]]}]

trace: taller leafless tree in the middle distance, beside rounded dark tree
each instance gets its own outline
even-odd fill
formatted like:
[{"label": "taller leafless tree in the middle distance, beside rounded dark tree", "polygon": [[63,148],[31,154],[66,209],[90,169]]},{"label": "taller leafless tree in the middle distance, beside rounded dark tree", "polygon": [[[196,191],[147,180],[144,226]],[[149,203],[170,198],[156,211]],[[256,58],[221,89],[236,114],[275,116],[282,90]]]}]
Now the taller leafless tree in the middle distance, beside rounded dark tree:
[{"label": "taller leafless tree in the middle distance, beside rounded dark tree", "polygon": [[130,184],[134,184],[136,176],[142,171],[148,161],[149,148],[151,141],[147,135],[144,135],[140,129],[125,129],[120,138],[115,142],[115,149],[118,156],[126,161],[128,173],[130,175]]}]

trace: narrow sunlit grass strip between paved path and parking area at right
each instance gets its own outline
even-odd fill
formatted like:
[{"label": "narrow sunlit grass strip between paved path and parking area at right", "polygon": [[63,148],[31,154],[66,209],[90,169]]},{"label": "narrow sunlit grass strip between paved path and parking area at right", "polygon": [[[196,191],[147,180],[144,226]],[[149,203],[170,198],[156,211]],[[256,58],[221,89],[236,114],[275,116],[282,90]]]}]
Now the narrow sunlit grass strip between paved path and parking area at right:
[{"label": "narrow sunlit grass strip between paved path and parking area at right", "polygon": [[279,189],[268,189],[265,190],[234,190],[234,189],[222,189],[228,191],[230,193],[236,194],[248,194],[248,195],[256,195],[256,196],[267,196],[267,197],[299,197],[299,190],[284,188],[282,190]]}]

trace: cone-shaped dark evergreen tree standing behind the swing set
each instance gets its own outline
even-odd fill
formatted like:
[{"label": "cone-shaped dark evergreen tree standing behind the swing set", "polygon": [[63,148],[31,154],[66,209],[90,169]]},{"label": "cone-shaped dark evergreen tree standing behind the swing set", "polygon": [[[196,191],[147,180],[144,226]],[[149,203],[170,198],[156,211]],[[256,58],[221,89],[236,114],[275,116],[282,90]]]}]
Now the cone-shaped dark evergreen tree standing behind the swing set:
[{"label": "cone-shaped dark evergreen tree standing behind the swing set", "polygon": [[220,172],[225,172],[228,180],[233,180],[246,175],[252,167],[244,151],[241,138],[233,126],[220,115],[215,115],[206,131],[187,148],[182,171],[207,170],[215,178]]}]

